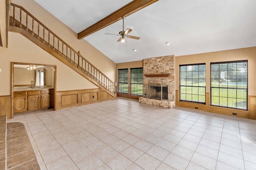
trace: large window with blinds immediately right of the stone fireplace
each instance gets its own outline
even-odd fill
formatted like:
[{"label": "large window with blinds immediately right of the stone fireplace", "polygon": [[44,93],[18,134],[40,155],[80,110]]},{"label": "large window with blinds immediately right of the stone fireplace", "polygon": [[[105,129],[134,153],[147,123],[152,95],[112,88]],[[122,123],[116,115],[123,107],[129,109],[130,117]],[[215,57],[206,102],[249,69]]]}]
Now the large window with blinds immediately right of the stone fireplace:
[{"label": "large window with blinds immediately right of the stone fireplace", "polygon": [[180,65],[180,101],[205,104],[205,63]]}]

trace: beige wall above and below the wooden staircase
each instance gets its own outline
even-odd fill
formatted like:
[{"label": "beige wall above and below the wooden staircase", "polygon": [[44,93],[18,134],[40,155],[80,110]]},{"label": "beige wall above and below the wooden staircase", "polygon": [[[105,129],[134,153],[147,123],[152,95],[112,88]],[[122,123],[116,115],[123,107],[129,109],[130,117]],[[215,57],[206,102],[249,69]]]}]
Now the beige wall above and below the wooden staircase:
[{"label": "beige wall above and below the wooden staircase", "polygon": [[[116,64],[113,61],[84,39],[78,40],[74,31],[44,10],[34,0],[12,0],[12,3],[23,6],[72,48],[80,51],[84,58],[111,80],[116,79]],[[8,48],[0,47],[0,68],[2,68],[2,72],[0,72],[0,96],[10,95],[11,62],[56,65],[57,91],[98,88],[21,34],[8,32]]]}]

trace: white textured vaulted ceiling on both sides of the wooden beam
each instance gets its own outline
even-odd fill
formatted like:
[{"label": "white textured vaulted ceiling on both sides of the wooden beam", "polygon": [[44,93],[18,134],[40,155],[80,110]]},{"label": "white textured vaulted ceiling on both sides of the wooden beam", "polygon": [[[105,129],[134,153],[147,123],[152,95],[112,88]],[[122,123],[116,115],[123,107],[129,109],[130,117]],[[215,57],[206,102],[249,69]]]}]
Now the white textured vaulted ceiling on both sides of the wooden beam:
[{"label": "white textured vaulted ceiling on both sides of the wooden beam", "polygon": [[[76,33],[132,0],[35,0]],[[84,39],[115,63],[256,46],[256,0],[159,0]],[[170,42],[170,45],[166,45]],[[137,51],[134,52],[133,49]],[[79,49],[77,49],[79,50]]]}]

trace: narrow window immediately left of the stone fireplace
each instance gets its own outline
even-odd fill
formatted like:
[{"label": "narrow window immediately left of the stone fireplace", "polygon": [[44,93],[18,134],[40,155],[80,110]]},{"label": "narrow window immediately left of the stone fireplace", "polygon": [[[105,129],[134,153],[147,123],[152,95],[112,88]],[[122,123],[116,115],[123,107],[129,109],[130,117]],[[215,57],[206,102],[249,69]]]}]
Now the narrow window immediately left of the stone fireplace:
[{"label": "narrow window immediately left of the stone fireplace", "polygon": [[143,68],[131,68],[131,94],[143,94]]}]

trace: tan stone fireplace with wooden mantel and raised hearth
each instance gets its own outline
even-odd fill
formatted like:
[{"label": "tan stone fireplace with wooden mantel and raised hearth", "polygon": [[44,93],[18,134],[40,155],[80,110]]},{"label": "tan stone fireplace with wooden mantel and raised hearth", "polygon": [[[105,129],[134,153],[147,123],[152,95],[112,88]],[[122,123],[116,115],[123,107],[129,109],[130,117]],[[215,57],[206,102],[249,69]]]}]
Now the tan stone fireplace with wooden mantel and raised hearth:
[{"label": "tan stone fireplace with wooden mantel and raised hearth", "polygon": [[143,97],[140,103],[175,107],[175,56],[144,59]]}]

